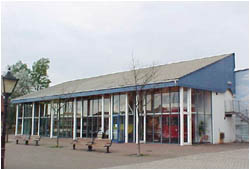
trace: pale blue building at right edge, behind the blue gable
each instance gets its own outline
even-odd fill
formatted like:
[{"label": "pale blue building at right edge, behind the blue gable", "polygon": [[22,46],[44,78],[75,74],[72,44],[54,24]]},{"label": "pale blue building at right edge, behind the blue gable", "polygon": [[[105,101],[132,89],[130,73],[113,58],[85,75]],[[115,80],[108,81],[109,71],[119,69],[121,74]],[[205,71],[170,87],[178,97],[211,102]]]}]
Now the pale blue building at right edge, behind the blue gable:
[{"label": "pale blue building at right edge, behind the blue gable", "polygon": [[249,69],[235,71],[235,101],[238,111],[245,114],[247,119],[236,117],[236,139],[249,141]]}]

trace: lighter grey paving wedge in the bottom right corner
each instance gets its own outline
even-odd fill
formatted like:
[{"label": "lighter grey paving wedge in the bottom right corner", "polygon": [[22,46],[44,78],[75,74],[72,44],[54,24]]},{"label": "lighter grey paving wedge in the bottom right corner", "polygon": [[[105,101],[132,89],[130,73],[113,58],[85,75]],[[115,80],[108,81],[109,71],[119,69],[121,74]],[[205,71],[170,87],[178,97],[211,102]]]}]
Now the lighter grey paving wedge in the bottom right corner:
[{"label": "lighter grey paving wedge in the bottom right corner", "polygon": [[234,151],[202,153],[163,159],[146,163],[137,163],[111,167],[112,169],[249,169],[248,149]]}]

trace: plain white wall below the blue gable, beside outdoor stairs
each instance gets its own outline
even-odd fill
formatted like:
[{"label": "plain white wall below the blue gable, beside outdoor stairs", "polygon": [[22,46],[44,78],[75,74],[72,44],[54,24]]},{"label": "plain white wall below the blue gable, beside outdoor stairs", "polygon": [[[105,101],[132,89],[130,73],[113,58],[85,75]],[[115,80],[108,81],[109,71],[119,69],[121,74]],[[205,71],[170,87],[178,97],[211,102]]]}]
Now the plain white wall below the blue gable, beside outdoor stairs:
[{"label": "plain white wall below the blue gable, beside outdoor stairs", "polygon": [[212,117],[213,117],[213,143],[219,143],[220,132],[224,132],[224,142],[235,141],[235,116],[225,117],[224,101],[231,100],[232,93],[227,90],[225,93],[212,92]]}]

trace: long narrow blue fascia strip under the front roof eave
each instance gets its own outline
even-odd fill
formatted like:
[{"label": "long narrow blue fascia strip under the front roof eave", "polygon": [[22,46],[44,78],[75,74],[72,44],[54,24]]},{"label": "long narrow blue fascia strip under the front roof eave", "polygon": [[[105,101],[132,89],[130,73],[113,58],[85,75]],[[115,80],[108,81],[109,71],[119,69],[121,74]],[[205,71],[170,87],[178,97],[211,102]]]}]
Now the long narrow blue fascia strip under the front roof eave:
[{"label": "long narrow blue fascia strip under the front roof eave", "polygon": [[[172,86],[177,86],[177,83],[174,81],[171,81],[171,82],[147,84],[143,87],[143,89],[147,90],[147,89],[156,89],[156,88],[164,88],[164,87],[172,87]],[[29,102],[47,101],[47,100],[54,100],[54,99],[65,99],[65,98],[75,98],[75,97],[84,97],[84,96],[93,96],[93,95],[102,95],[102,94],[121,93],[121,92],[128,92],[128,91],[135,91],[135,86],[95,90],[95,91],[87,91],[87,92],[55,95],[55,96],[45,96],[45,97],[38,97],[38,98],[12,100],[11,102],[15,104],[29,103]]]}]

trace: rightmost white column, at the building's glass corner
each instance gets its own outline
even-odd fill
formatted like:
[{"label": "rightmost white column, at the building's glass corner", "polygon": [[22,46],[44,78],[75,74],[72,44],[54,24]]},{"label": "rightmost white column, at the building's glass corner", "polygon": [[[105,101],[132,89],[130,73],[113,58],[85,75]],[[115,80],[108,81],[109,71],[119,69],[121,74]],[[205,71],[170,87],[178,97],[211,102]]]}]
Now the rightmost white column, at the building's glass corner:
[{"label": "rightmost white column, at the building's glass corner", "polygon": [[192,91],[191,88],[187,89],[187,118],[188,118],[188,144],[192,145]]}]

